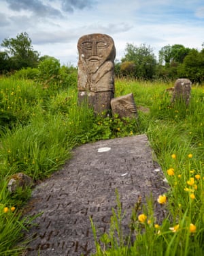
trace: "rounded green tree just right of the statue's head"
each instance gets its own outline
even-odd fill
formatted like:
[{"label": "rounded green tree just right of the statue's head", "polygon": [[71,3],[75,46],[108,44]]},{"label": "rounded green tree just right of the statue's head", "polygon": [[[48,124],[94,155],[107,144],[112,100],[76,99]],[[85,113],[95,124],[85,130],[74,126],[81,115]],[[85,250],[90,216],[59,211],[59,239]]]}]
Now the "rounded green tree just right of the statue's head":
[{"label": "rounded green tree just right of the statue's head", "polygon": [[[135,77],[140,79],[152,79],[156,69],[156,57],[150,46],[141,44],[139,47],[126,44],[125,56],[122,62],[130,61],[135,65]],[[133,70],[131,70],[133,72]]]}]

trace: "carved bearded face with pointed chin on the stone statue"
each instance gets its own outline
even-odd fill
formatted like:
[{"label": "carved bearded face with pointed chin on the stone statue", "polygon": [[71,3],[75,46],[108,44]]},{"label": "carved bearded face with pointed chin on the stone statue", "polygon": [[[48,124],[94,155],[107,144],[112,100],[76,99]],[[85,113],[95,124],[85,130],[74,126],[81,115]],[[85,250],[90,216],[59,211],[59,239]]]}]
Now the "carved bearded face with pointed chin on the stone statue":
[{"label": "carved bearded face with pointed chin on the stone statue", "polygon": [[105,61],[114,61],[116,49],[109,35],[93,33],[84,35],[78,41],[79,59],[95,72]]}]

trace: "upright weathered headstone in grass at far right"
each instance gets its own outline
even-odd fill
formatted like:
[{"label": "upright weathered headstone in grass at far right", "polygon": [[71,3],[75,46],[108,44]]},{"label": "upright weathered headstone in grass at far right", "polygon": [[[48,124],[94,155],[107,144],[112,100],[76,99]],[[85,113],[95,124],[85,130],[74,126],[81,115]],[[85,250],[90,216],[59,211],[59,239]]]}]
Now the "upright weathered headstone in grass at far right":
[{"label": "upright weathered headstone in grass at far right", "polygon": [[190,101],[191,81],[189,79],[177,79],[173,88],[172,102],[183,100],[186,104]]}]

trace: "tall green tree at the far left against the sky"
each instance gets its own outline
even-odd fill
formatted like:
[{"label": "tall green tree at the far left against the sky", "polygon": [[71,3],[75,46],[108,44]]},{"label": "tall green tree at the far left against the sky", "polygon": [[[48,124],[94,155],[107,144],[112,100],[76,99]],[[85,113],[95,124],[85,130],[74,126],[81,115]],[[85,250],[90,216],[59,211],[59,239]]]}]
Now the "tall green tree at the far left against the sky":
[{"label": "tall green tree at the far left against the sky", "polygon": [[12,61],[12,69],[36,67],[39,59],[39,53],[33,51],[31,39],[28,33],[20,33],[16,38],[5,38],[1,46]]}]

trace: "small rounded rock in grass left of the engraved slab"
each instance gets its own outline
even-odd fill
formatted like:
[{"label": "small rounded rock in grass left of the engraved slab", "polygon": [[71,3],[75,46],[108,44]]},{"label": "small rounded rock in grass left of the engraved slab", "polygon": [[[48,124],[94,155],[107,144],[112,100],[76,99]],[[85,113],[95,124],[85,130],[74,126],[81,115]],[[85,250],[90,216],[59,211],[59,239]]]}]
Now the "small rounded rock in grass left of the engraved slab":
[{"label": "small rounded rock in grass left of the engraved slab", "polygon": [[17,188],[25,188],[26,186],[32,186],[33,180],[31,177],[24,173],[15,173],[10,176],[10,180],[7,183],[7,189],[14,193]]}]

